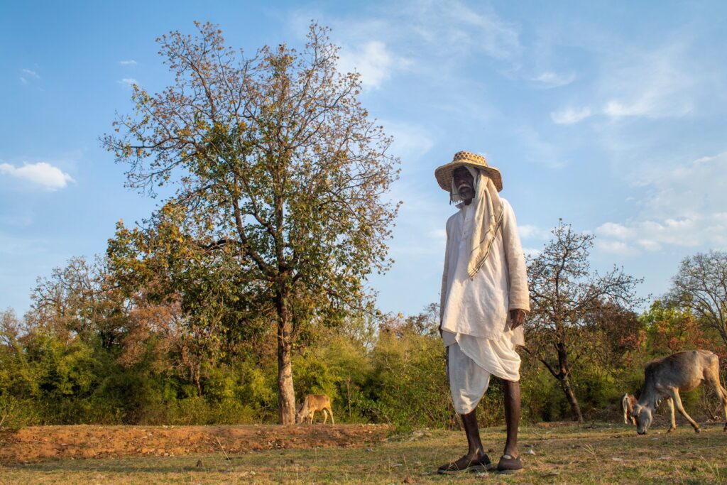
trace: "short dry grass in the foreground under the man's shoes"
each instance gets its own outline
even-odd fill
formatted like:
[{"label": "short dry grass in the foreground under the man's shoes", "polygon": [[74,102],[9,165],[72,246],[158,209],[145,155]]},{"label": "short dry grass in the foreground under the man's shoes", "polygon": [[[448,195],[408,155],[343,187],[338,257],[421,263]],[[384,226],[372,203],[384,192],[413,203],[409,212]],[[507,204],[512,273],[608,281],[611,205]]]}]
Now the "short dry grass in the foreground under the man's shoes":
[{"label": "short dry grass in the foreground under the man's shoes", "polygon": [[[453,483],[474,484],[678,484],[727,483],[727,433],[721,425],[696,434],[681,425],[674,433],[652,429],[637,436],[625,425],[523,427],[526,470],[439,476],[438,465],[464,451],[462,432],[422,430],[367,448],[284,449],[267,452],[55,460],[0,466],[0,484],[248,484],[248,483]],[[502,452],[503,428],[481,430],[493,460]],[[527,450],[531,449],[534,454]],[[406,481],[405,481],[406,480]]]}]

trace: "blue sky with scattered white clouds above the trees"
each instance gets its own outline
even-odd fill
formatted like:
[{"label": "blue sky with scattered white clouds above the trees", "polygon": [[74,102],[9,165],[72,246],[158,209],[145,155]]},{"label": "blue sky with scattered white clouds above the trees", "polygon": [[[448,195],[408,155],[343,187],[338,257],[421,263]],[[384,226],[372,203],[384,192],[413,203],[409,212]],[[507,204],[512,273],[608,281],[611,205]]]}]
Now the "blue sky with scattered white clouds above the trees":
[{"label": "blue sky with scattered white clouds above the trees", "polygon": [[453,208],[433,171],[460,150],[502,171],[528,252],[562,217],[595,234],[594,268],[658,296],[683,257],[727,249],[725,18],[723,1],[3,2],[0,309],[22,314],[38,276],[156,207],[98,137],[130,83],[171,83],[154,40],[193,20],[248,52],[332,28],[402,160],[382,310],[438,301]]}]

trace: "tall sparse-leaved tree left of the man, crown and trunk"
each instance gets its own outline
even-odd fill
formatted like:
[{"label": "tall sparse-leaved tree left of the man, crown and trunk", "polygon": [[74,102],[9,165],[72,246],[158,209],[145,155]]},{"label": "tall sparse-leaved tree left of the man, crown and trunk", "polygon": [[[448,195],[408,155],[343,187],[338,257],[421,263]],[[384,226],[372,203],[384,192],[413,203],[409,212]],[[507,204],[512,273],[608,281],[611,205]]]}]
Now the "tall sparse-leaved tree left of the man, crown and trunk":
[{"label": "tall sparse-leaved tree left of the man, crown and trunk", "polygon": [[385,194],[398,160],[358,103],[358,75],[337,71],[325,28],[311,25],[300,52],[281,44],[246,57],[214,25],[196,26],[197,36],[158,39],[174,84],[154,95],[134,86],[134,115],[103,143],[129,164],[132,187],[176,189],[167,203],[198,249],[232,268],[238,297],[253,289],[273,305],[279,415],[290,423],[295,319],[369,303],[366,277],[390,265],[398,204]]}]

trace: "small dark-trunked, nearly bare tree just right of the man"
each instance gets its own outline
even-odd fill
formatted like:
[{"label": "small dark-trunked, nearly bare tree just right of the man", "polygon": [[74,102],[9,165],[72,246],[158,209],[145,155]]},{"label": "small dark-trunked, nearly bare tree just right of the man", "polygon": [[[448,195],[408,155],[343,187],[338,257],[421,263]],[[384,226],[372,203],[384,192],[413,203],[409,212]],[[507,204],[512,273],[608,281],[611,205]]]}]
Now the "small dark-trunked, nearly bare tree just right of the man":
[{"label": "small dark-trunked, nearly bare tree just right of the man", "polygon": [[561,385],[574,419],[583,421],[572,384],[572,369],[579,359],[592,355],[595,335],[589,334],[593,316],[604,305],[629,307],[640,299],[640,280],[614,268],[601,276],[590,270],[588,256],[594,236],[576,233],[561,220],[553,239],[529,261],[531,313],[526,329],[528,351]]}]

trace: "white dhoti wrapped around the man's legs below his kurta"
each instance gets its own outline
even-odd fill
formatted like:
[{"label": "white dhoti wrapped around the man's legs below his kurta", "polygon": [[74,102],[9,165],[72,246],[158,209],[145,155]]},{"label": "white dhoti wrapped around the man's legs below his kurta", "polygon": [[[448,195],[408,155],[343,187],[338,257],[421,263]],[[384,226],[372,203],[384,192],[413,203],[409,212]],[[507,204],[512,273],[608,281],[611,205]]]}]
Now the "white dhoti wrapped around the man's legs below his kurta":
[{"label": "white dhoti wrapped around the man's legs below his kurta", "polygon": [[471,412],[487,390],[490,376],[520,380],[520,356],[510,332],[499,340],[443,332],[447,346],[449,390],[457,414]]}]

